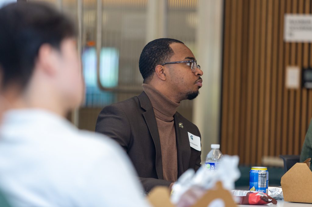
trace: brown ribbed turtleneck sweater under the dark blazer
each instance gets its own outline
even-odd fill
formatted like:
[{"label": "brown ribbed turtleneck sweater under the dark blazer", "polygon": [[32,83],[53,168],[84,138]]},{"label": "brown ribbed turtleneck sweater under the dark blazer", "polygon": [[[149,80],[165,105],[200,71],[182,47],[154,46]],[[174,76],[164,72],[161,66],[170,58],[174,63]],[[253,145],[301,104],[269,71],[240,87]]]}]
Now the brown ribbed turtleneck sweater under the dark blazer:
[{"label": "brown ribbed turtleneck sweater under the dark blazer", "polygon": [[161,147],[163,179],[175,182],[178,179],[178,155],[173,115],[180,104],[148,84],[142,84],[154,109]]}]

